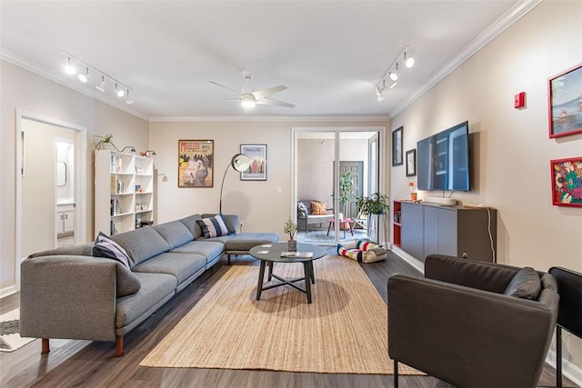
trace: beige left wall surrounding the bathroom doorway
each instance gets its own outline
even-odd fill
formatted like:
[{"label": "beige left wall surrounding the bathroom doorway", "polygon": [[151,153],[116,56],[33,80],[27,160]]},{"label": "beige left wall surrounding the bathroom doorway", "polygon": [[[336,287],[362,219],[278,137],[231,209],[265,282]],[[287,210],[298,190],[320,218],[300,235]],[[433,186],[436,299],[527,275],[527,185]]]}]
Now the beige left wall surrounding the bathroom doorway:
[{"label": "beige left wall surrounding the bathroom doorway", "polygon": [[0,296],[15,291],[15,111],[86,128],[86,240],[93,236],[94,134],[114,134],[118,146],[148,147],[148,123],[0,60]]}]

